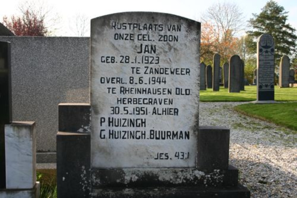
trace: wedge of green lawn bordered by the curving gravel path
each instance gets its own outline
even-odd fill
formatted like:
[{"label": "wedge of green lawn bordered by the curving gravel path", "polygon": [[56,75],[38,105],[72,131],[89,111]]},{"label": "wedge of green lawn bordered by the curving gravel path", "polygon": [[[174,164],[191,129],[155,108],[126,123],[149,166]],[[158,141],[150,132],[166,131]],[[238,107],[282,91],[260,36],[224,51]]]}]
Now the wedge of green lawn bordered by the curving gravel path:
[{"label": "wedge of green lawn bordered by the curving gravel path", "polygon": [[238,112],[260,118],[293,129],[297,134],[297,102],[273,104],[241,104],[235,107]]}]

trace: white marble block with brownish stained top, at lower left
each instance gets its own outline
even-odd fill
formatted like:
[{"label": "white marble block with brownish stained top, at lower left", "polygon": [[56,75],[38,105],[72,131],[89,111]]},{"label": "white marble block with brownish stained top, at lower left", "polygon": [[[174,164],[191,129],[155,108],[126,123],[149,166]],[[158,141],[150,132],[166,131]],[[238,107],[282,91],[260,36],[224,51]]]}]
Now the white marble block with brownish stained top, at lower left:
[{"label": "white marble block with brownish stained top, at lower left", "polygon": [[7,189],[32,189],[36,183],[36,132],[34,122],[5,125]]}]

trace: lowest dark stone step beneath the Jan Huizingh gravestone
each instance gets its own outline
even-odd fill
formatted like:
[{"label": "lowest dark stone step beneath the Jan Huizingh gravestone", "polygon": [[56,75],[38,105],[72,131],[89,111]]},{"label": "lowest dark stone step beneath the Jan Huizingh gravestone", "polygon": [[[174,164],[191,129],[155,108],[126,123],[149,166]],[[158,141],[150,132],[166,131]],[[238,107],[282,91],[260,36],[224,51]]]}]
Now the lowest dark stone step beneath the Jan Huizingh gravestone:
[{"label": "lowest dark stone step beneath the Jan Huizingh gravestone", "polygon": [[240,198],[250,197],[250,192],[243,186],[236,187],[151,187],[151,188],[125,188],[125,189],[96,189],[91,197],[103,198],[136,198],[136,197],[162,197],[162,198],[195,198],[218,197]]}]

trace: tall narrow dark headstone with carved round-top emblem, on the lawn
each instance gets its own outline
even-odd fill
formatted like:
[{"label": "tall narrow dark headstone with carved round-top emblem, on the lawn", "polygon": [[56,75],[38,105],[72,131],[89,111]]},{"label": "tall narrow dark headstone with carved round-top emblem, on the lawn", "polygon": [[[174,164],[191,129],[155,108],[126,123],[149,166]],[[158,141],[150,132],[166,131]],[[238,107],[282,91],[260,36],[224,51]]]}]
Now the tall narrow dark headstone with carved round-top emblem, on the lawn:
[{"label": "tall narrow dark headstone with carved round-top emblem, on the lawn", "polygon": [[257,42],[257,100],[274,100],[274,40],[262,34]]}]

